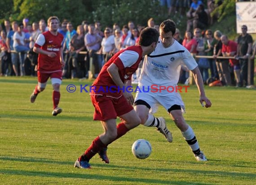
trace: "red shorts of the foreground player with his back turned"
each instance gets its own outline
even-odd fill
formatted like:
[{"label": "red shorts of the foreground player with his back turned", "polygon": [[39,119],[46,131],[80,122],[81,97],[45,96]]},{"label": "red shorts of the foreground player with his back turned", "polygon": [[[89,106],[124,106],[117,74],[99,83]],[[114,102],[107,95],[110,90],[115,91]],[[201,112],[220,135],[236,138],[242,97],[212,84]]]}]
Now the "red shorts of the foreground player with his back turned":
[{"label": "red shorts of the foreground player with his back turned", "polygon": [[93,120],[106,121],[116,119],[117,116],[124,115],[133,110],[126,98],[106,97],[106,95],[91,95],[91,100],[95,108]]}]

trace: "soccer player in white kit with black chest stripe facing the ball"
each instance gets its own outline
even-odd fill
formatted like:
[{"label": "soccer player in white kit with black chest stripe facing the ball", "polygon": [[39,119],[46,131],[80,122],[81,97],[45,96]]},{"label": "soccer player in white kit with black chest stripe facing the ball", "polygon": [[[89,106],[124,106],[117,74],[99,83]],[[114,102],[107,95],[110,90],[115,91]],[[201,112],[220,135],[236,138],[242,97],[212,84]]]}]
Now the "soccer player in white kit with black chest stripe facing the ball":
[{"label": "soccer player in white kit with black chest stripe facing the ball", "polygon": [[[135,111],[141,119],[141,124],[147,127],[156,127],[159,122],[165,122],[163,118],[156,118],[154,114],[158,105],[162,105],[172,117],[176,126],[181,130],[182,136],[187,141],[197,161],[207,161],[205,155],[199,148],[193,129],[185,122],[182,112],[185,110],[181,95],[172,88],[177,87],[180,76],[181,65],[185,65],[193,72],[195,83],[199,90],[199,101],[202,106],[211,107],[211,101],[205,96],[203,79],[198,65],[190,52],[173,39],[176,31],[176,24],[168,19],[163,21],[159,27],[159,44],[154,52],[145,56],[142,73],[139,78],[139,88],[146,91],[137,92],[135,98]],[[154,88],[152,89],[152,85]],[[167,89],[156,92],[156,87]],[[147,92],[149,90],[149,92]],[[146,93],[147,92],[147,93]],[[203,104],[205,102],[205,104]],[[166,128],[159,130],[169,142],[172,142],[172,135]]]}]

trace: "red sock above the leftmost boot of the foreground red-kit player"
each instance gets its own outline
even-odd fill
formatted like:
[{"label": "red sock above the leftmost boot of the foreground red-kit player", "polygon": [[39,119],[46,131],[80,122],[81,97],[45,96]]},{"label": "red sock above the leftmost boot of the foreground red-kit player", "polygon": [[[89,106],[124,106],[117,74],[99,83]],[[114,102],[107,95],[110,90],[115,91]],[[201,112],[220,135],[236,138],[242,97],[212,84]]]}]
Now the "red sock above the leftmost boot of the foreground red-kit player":
[{"label": "red sock above the leftmost boot of the foreground red-kit player", "polygon": [[92,157],[97,154],[102,148],[106,148],[106,145],[102,143],[100,137],[96,137],[92,144],[89,146],[87,150],[85,150],[84,154],[79,157],[79,161],[87,161],[89,162]]}]

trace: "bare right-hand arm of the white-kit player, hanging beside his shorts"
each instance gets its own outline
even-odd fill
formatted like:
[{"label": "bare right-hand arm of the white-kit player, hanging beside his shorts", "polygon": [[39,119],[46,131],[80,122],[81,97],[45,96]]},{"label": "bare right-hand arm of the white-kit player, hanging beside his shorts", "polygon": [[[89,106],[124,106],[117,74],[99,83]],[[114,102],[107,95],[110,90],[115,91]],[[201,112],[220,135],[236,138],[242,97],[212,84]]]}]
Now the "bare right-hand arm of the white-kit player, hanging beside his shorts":
[{"label": "bare right-hand arm of the white-kit player, hanging beside his shorts", "polygon": [[195,83],[197,85],[197,88],[199,90],[199,94],[200,94],[200,103],[201,105],[203,106],[203,101],[205,102],[205,107],[208,108],[208,107],[211,107],[212,106],[212,103],[211,101],[205,96],[205,93],[204,93],[204,88],[203,88],[203,79],[202,79],[202,75],[200,73],[200,70],[198,68],[198,66],[196,68],[194,68],[194,70],[191,70],[193,75],[194,75],[194,80],[195,80]]}]

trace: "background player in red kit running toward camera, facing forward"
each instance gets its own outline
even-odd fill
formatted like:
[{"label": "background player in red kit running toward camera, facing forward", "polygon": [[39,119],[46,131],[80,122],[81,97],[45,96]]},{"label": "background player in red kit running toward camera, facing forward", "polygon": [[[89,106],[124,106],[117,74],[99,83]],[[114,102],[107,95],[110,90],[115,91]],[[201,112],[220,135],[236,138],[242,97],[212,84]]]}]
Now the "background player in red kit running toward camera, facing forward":
[{"label": "background player in red kit running toward camera, facing forward", "polygon": [[53,116],[62,112],[58,107],[60,101],[60,85],[62,83],[62,66],[64,66],[62,53],[63,35],[57,32],[59,19],[52,16],[47,21],[49,31],[40,34],[35,41],[33,51],[39,53],[37,76],[38,84],[31,94],[31,103],[35,102],[38,93],[44,91],[47,80],[51,78],[53,85]]}]

